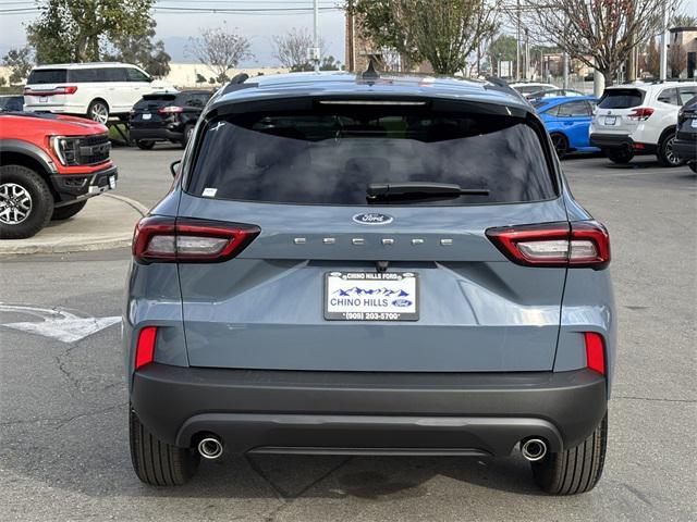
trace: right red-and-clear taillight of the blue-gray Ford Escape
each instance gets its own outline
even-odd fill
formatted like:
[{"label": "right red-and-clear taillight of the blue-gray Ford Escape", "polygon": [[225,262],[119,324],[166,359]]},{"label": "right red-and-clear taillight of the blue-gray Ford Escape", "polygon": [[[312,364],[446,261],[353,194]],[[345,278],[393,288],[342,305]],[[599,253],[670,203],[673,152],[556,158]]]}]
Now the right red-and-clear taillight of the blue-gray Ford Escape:
[{"label": "right red-and-clear taillight of the blue-gray Ford Escape", "polygon": [[596,221],[489,228],[487,237],[511,261],[525,266],[589,266],[610,263],[610,236]]}]

